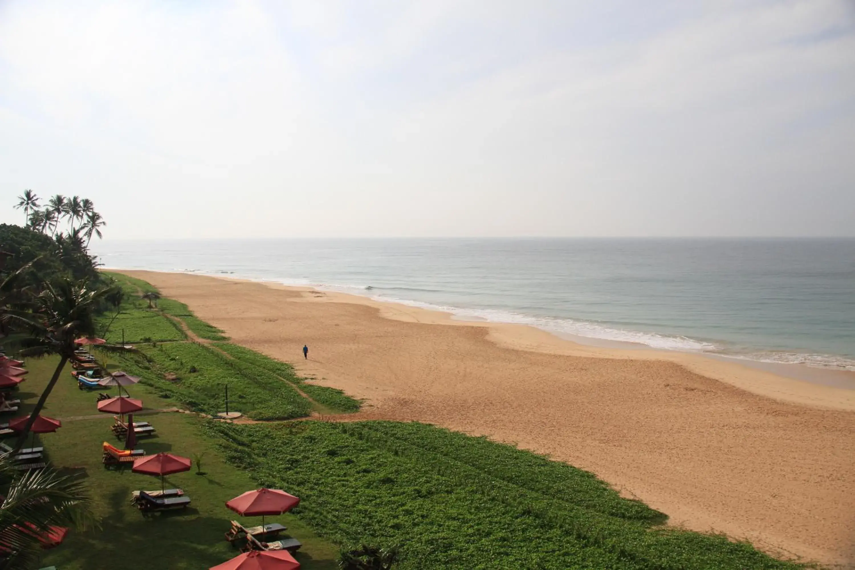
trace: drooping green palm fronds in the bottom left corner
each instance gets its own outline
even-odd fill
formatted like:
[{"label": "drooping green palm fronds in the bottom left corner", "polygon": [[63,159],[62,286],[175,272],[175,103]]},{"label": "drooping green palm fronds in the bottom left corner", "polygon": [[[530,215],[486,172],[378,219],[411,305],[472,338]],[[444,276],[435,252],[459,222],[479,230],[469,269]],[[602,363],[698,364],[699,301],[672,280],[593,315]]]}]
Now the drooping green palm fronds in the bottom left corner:
[{"label": "drooping green palm fronds in the bottom left corner", "polygon": [[13,454],[0,455],[0,544],[6,550],[0,567],[30,570],[41,556],[38,537],[50,532],[50,526],[84,530],[98,525],[82,474],[60,475],[52,469],[21,473],[15,465]]}]

